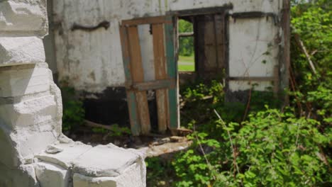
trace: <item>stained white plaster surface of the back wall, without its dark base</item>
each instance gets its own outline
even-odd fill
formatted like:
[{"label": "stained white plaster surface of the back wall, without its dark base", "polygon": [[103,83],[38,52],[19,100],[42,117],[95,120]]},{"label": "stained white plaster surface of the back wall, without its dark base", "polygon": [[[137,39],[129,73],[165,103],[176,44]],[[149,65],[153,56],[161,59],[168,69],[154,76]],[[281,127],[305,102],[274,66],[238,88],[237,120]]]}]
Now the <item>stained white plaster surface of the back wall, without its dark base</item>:
[{"label": "stained white plaster surface of the back wall, without its dark base", "polygon": [[[167,11],[224,6],[230,3],[233,4],[231,12],[234,13],[244,11],[280,13],[282,7],[282,0],[56,0],[54,1],[55,22],[61,23],[55,32],[59,78],[68,79],[74,83],[72,86],[76,89],[94,93],[103,91],[107,86],[123,86],[125,77],[118,31],[122,20],[160,16],[165,15]],[[104,28],[92,32],[70,30],[74,23],[96,26],[104,20],[111,22],[108,30]],[[230,57],[231,74],[243,74],[241,69],[244,66],[238,64],[238,57],[243,57],[246,67],[250,67],[250,76],[269,75],[270,67],[277,63],[275,56],[268,58],[269,62],[263,66],[258,62],[262,60],[259,57],[262,51],[267,50],[267,44],[277,33],[278,28],[272,24],[273,21],[262,18],[252,21],[238,20],[235,23],[231,20],[229,23],[230,51],[235,52]],[[144,30],[140,31],[142,33]],[[143,47],[145,46],[142,50],[145,53],[144,67],[153,67],[151,60],[153,53],[149,49],[150,37],[140,35],[140,42]],[[254,46],[257,44],[256,50],[253,50],[253,44]],[[272,50],[273,55],[275,52],[277,50]],[[145,79],[154,79],[154,73],[146,72]],[[237,87],[231,84],[232,89],[241,89]],[[262,86],[262,89],[264,87]]]}]

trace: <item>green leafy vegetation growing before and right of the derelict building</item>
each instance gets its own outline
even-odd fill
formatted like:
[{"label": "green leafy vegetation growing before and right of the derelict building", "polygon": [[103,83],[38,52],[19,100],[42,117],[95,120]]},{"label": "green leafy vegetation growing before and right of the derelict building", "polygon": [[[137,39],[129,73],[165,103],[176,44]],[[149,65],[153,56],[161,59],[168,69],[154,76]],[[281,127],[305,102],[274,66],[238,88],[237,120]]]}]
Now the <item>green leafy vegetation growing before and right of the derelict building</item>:
[{"label": "green leafy vegetation growing before and right of the derelict building", "polygon": [[147,159],[150,186],[332,186],[330,7],[328,0],[292,1],[288,107],[255,91],[248,106],[226,103],[218,81],[182,89],[182,125],[194,131],[194,143],[172,161]]}]

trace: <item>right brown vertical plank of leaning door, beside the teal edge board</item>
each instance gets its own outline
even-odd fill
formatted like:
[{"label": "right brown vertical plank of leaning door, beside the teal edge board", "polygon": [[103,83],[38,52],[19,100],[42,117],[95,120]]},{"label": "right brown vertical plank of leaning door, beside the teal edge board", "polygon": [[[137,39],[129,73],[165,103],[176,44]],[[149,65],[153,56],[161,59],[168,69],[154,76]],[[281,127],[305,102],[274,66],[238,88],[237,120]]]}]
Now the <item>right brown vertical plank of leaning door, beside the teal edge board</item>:
[{"label": "right brown vertical plank of leaning door, beside the teal edge board", "polygon": [[[167,78],[165,60],[165,42],[163,24],[153,25],[153,54],[155,60],[155,79],[162,80]],[[167,89],[156,90],[158,130],[165,132],[168,122],[168,99]]]}]

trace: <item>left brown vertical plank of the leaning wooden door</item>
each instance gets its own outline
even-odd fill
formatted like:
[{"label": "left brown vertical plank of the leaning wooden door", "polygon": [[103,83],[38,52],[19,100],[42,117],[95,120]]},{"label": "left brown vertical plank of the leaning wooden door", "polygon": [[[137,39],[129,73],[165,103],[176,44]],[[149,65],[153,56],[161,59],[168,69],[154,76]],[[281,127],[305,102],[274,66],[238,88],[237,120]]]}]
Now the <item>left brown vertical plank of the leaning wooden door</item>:
[{"label": "left brown vertical plank of the leaning wooden door", "polygon": [[[142,57],[140,53],[140,40],[138,38],[138,28],[128,28],[129,54],[131,57],[131,77],[133,82],[144,81],[144,71]],[[146,91],[136,91],[136,101],[138,106],[138,115],[140,118],[140,128],[143,135],[150,132],[150,114],[148,107],[148,96]]]}]

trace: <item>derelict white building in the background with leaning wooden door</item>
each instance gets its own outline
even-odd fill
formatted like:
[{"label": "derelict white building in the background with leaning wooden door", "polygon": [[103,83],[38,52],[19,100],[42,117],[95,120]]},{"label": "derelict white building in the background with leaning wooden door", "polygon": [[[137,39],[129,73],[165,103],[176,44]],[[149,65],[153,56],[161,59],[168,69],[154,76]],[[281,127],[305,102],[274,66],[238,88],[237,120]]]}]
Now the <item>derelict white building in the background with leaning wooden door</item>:
[{"label": "derelict white building in the background with leaning wooden door", "polygon": [[[77,6],[79,4],[79,6]],[[250,85],[287,87],[282,0],[50,1],[46,62],[83,98],[86,118],[134,135],[179,127],[182,81],[223,79],[227,99]],[[194,32],[179,33],[177,23]],[[195,72],[179,72],[179,37],[194,38]],[[246,98],[246,97],[245,97]]]}]

